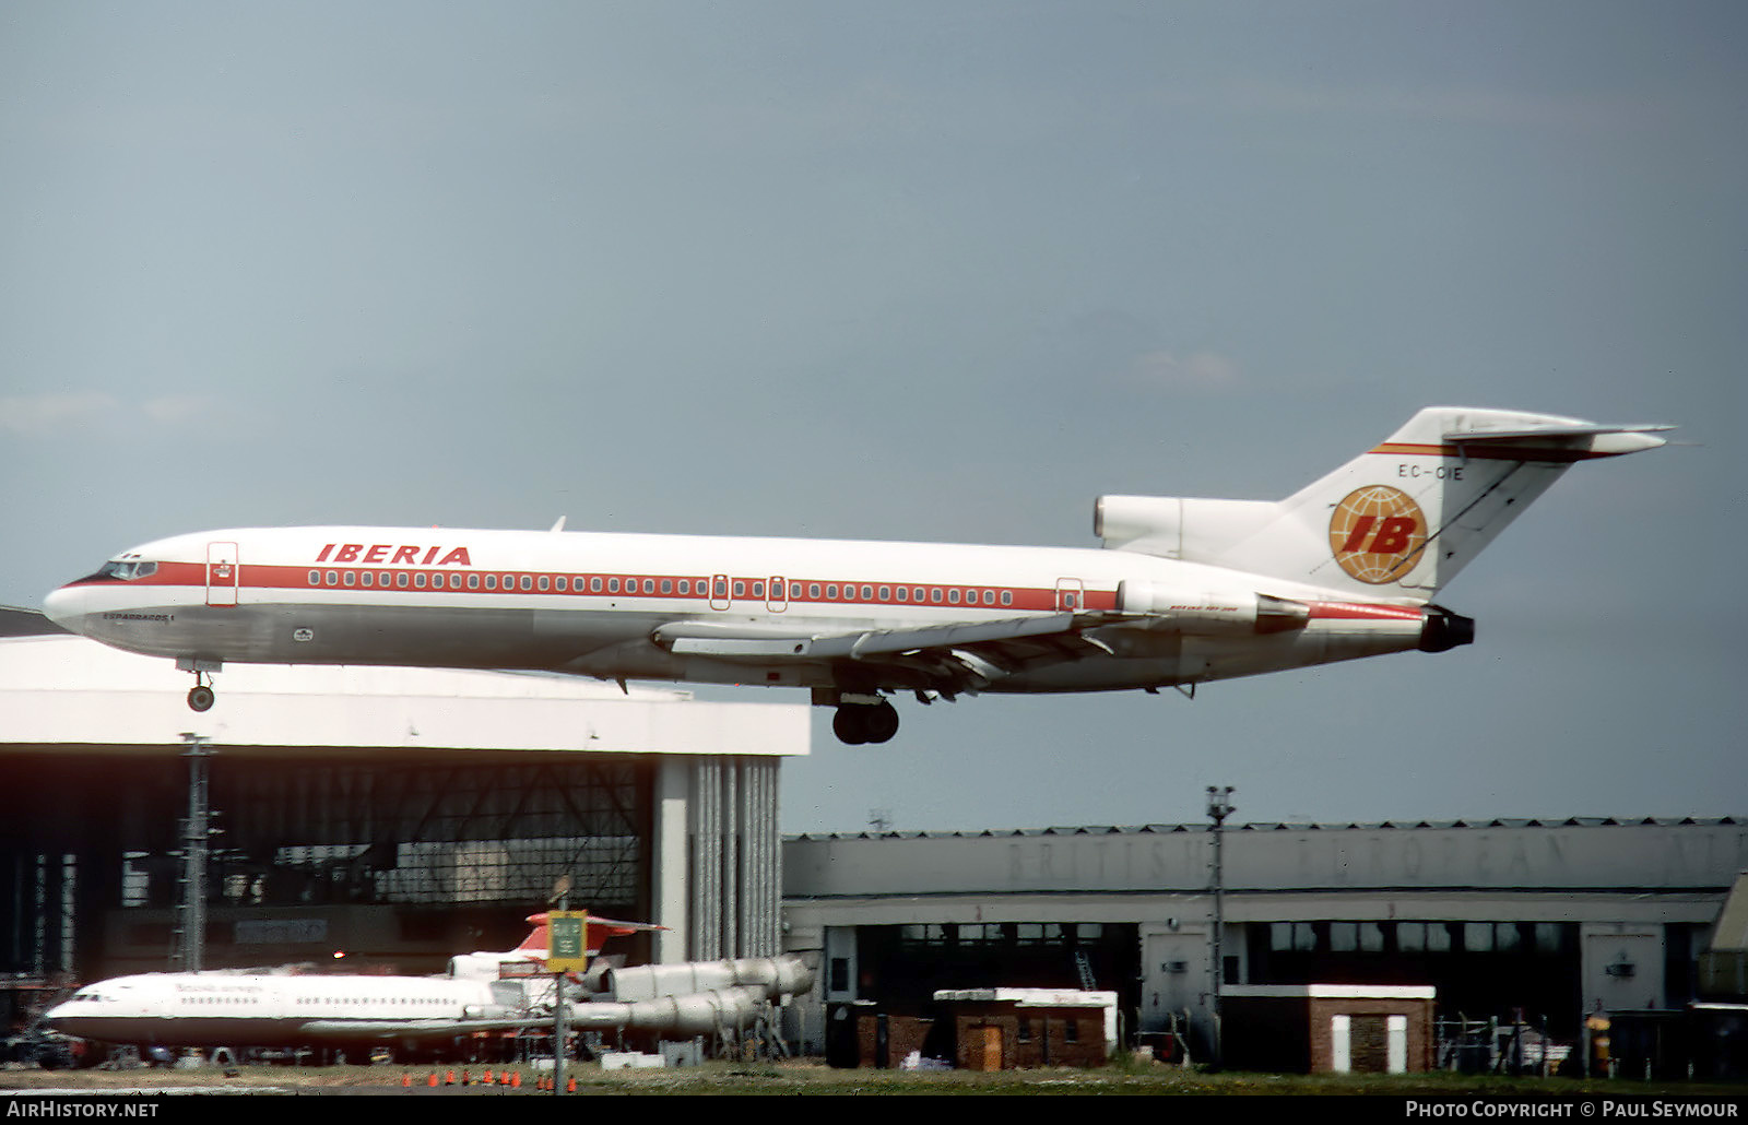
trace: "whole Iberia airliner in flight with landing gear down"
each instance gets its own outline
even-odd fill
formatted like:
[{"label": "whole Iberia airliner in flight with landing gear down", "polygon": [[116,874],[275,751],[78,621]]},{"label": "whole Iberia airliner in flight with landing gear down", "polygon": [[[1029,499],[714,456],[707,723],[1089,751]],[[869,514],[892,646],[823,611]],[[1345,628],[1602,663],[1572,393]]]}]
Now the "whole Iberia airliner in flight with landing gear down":
[{"label": "whole Iberia airliner in flight with landing gear down", "polygon": [[175,657],[196,711],[227,660],[549,669],[811,688],[839,739],[884,742],[895,692],[1192,690],[1468,645],[1439,590],[1573,461],[1668,428],[1432,407],[1281,501],[1101,496],[1103,549],[206,531],[114,557],[47,613]]}]

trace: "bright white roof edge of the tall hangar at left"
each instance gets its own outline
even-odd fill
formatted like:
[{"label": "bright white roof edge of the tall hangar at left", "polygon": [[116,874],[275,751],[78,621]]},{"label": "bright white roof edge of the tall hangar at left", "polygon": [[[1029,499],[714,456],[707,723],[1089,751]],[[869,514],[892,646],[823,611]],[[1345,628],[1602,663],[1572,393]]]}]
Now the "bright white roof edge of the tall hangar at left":
[{"label": "bright white roof edge of the tall hangar at left", "polygon": [[[9,615],[10,617],[10,615]],[[182,734],[231,751],[287,748],[806,755],[808,706],[699,702],[573,676],[229,664],[189,711],[171,660],[59,634],[0,639],[0,751],[164,753]],[[510,706],[514,704],[514,706]]]}]

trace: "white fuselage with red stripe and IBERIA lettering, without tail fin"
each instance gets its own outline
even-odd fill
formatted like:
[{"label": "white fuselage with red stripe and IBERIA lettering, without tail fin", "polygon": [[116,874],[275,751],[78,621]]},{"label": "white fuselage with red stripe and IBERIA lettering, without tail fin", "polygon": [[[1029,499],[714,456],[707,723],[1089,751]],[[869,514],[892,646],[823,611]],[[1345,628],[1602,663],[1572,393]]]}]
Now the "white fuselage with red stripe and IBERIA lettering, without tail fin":
[{"label": "white fuselage with red stripe and IBERIA lettering, without tail fin", "polygon": [[[1089,692],[1409,650],[1426,624],[1402,601],[1063,547],[264,528],[159,540],[105,571],[51,594],[49,615],[187,667],[400,664],[925,690],[905,653],[871,660],[802,641],[1056,617],[1091,645],[1073,659],[1014,660],[977,690]],[[1259,594],[1306,610],[1292,629],[1259,629]],[[734,643],[711,646],[718,631]]]}]

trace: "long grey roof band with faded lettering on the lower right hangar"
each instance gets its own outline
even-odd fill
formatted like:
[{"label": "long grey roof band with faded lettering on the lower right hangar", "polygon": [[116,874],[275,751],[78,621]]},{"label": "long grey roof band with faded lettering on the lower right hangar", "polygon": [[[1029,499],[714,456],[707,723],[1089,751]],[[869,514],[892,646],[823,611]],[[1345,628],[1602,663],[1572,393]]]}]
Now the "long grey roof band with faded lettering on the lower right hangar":
[{"label": "long grey roof band with faded lettering on the lower right hangar", "polygon": [[[1206,825],[846,833],[783,842],[785,896],[1201,893]],[[1250,825],[1224,833],[1229,889],[1622,887],[1720,894],[1748,816]]]}]

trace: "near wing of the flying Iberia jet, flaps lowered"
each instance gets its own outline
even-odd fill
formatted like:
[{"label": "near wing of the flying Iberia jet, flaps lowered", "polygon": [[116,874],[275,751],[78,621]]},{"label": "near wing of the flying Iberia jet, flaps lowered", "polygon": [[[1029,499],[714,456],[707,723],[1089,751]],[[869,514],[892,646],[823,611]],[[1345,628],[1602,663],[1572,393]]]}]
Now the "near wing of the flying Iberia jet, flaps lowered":
[{"label": "near wing of the flying Iberia jet, flaps lowered", "polygon": [[722,660],[846,662],[851,680],[953,695],[1040,664],[1108,653],[1084,634],[1101,624],[1105,615],[1096,613],[860,631],[811,631],[804,622],[671,622],[656,631],[656,643],[680,655]]}]

